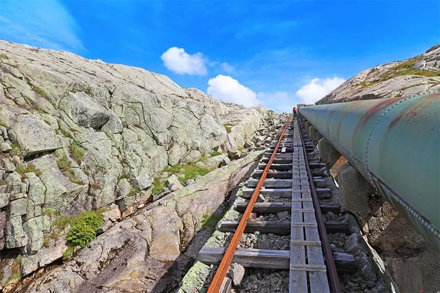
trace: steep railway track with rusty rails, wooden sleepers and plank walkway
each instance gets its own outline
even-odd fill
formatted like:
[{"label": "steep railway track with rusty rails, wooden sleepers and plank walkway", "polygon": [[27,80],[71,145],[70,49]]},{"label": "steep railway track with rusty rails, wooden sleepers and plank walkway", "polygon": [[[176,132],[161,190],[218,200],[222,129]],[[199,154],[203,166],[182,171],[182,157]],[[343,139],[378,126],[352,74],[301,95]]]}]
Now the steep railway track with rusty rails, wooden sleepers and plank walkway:
[{"label": "steep railway track with rusty rails, wooden sleepers and plank walkway", "polygon": [[[242,196],[250,197],[249,203],[236,206],[237,210],[243,212],[240,222],[222,221],[219,225],[221,231],[235,231],[228,248],[225,250],[203,247],[200,250],[199,259],[204,258],[205,262],[215,263],[216,259],[223,255],[207,292],[230,291],[231,279],[226,275],[233,260],[250,267],[288,269],[289,293],[342,291],[327,238],[326,227],[331,228],[331,225],[324,222],[321,213],[323,207],[319,204],[319,193],[315,188],[315,184],[319,184],[323,179],[313,176],[316,172],[312,172],[309,166],[308,154],[314,152],[314,146],[303,136],[306,134],[301,120],[291,120],[289,117],[278,140],[273,141],[276,145],[268,148],[270,152],[265,153],[258,169],[252,175],[254,178],[259,177],[259,180],[250,178],[247,182],[248,188]],[[272,165],[273,162],[276,164]],[[278,162],[283,163],[277,164]],[[287,162],[290,162],[290,166],[285,166]],[[284,166],[280,167],[281,165]],[[319,163],[312,166],[322,167]],[[252,196],[249,196],[251,192]],[[291,201],[256,203],[260,194],[275,198],[289,197]],[[281,221],[250,220],[252,212],[275,213],[286,210],[291,214],[290,224]],[[346,227],[337,229],[344,228]],[[243,233],[260,231],[288,234],[289,230],[290,251],[238,249]]]}]

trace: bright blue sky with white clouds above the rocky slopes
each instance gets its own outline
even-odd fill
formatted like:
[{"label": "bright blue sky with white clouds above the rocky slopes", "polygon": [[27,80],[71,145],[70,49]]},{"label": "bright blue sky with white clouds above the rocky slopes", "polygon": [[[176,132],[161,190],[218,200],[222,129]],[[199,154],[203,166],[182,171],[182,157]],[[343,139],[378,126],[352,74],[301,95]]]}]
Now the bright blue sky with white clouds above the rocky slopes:
[{"label": "bright blue sky with white clouds above the rocky slopes", "polygon": [[[431,13],[429,13],[429,11]],[[0,39],[289,111],[440,42],[440,2],[0,0]]]}]

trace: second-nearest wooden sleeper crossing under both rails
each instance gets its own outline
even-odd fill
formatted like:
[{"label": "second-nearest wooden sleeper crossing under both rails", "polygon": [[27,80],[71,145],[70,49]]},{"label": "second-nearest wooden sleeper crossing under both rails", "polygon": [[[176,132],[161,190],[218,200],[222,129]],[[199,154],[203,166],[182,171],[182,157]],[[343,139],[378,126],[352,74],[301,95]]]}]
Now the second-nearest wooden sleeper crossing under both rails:
[{"label": "second-nearest wooden sleeper crossing under both rails", "polygon": [[[219,231],[234,232],[237,229],[238,221],[221,221]],[[249,221],[245,228],[245,233],[274,233],[281,235],[290,234],[291,223],[289,221]],[[345,233],[350,234],[350,228],[347,223],[326,222],[327,233]]]}]

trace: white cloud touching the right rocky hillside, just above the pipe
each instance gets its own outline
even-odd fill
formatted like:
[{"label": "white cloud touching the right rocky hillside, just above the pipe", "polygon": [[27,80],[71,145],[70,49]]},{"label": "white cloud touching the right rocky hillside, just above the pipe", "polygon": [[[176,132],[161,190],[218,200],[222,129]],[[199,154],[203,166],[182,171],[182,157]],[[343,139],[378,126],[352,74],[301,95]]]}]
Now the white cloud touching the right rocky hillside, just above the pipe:
[{"label": "white cloud touching the right rocky hillside, just above the pipe", "polygon": [[319,79],[314,78],[312,81],[302,86],[296,95],[305,104],[315,104],[316,101],[324,98],[325,95],[336,89],[345,79],[340,77]]}]

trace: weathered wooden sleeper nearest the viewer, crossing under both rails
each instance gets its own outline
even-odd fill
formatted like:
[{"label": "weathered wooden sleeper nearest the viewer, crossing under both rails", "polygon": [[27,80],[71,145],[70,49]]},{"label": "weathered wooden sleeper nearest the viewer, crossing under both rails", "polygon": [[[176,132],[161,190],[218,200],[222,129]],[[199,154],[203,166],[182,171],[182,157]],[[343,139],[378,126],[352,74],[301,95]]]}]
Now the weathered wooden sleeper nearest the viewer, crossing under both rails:
[{"label": "weathered wooden sleeper nearest the viewer, crossing under both rails", "polygon": [[[198,252],[198,261],[204,264],[218,264],[225,253],[224,247],[202,247]],[[333,252],[336,268],[341,273],[356,271],[356,262],[352,254]],[[261,267],[289,269],[290,251],[275,249],[239,248],[234,255],[233,262],[244,267]]]}]

